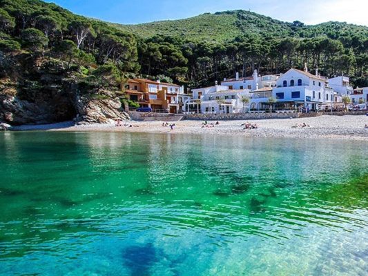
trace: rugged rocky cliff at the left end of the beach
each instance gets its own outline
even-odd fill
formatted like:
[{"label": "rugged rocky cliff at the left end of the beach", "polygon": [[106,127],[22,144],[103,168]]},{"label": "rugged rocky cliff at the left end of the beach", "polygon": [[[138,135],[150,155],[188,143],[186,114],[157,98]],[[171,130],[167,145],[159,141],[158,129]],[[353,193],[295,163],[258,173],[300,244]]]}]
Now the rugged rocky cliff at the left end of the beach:
[{"label": "rugged rocky cliff at the left end of the beach", "polygon": [[114,87],[81,86],[80,68],[64,61],[0,52],[0,122],[77,124],[128,120]]}]

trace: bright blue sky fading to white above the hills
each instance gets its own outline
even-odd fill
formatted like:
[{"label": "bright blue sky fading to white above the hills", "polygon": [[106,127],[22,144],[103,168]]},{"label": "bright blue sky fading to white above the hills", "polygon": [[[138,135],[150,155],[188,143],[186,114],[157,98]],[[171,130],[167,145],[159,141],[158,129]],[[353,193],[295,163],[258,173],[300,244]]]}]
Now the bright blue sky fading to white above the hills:
[{"label": "bright blue sky fading to white above the hills", "polygon": [[205,12],[251,10],[273,19],[368,26],[368,0],[46,0],[72,12],[122,24],[184,19]]}]

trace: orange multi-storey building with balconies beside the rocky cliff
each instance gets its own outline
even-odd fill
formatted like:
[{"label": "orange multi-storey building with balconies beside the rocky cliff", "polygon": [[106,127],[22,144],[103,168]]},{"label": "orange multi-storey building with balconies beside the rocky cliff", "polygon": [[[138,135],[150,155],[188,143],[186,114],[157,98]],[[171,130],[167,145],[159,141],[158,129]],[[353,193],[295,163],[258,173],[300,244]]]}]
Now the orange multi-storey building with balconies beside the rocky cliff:
[{"label": "orange multi-storey building with balconies beside the rocky cliff", "polygon": [[128,99],[136,101],[139,106],[171,113],[180,110],[178,95],[184,94],[183,88],[177,84],[150,79],[129,79],[125,89]]}]

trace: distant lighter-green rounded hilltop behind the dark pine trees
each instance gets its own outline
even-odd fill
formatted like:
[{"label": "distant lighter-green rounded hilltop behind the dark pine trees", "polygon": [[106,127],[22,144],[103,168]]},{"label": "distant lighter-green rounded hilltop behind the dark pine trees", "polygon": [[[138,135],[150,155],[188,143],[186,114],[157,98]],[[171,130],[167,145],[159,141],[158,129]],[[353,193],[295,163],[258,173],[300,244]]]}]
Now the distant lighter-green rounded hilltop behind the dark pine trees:
[{"label": "distant lighter-green rounded hilltop behind the dark pine trees", "polygon": [[166,20],[136,25],[110,23],[121,30],[148,39],[156,35],[185,37],[196,42],[224,43],[244,34],[260,34],[264,37],[317,37],[337,39],[347,33],[368,36],[368,27],[348,23],[327,22],[315,26],[304,26],[300,21],[283,22],[262,14],[245,10],[205,13],[180,20]]}]

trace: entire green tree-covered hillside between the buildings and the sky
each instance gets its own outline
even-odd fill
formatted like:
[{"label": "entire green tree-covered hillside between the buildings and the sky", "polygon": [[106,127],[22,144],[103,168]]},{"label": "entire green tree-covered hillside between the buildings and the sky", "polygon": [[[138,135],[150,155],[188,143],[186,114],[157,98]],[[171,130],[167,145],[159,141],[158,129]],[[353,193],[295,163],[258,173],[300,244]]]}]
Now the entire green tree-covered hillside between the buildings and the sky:
[{"label": "entire green tree-covered hillside between the buildings and the sky", "polygon": [[39,0],[0,0],[0,51],[14,50],[58,58],[71,69],[87,68],[80,70],[82,76],[92,79],[101,77],[93,75],[99,66],[107,66],[106,72],[115,72],[115,66],[120,75],[193,87],[235,72],[280,73],[307,62],[321,75],[349,75],[355,85],[368,86],[367,27],[338,22],[305,26],[246,11],[119,26]]}]

